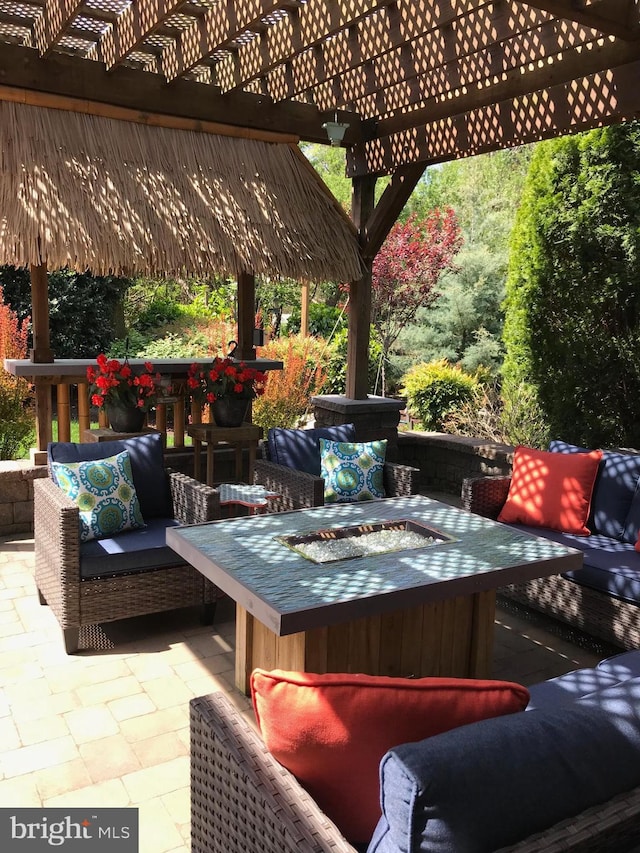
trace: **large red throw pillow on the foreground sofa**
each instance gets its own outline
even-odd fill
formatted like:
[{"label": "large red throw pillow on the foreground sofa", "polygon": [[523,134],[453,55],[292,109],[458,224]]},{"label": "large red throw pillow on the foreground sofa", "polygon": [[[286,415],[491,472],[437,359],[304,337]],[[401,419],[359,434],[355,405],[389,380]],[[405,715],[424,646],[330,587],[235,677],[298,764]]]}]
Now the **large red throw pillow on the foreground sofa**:
[{"label": "large red throw pillow on the foreground sofa", "polygon": [[526,687],[471,678],[316,675],[256,669],[253,707],[265,745],[352,844],[380,818],[378,765],[393,746],[522,711]]}]

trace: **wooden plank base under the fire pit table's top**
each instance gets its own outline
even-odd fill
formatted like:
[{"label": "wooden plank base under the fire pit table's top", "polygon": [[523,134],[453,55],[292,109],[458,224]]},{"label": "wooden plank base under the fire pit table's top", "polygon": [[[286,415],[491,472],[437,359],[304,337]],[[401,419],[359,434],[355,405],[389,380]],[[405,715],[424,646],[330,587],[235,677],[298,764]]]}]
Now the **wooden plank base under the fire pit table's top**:
[{"label": "wooden plank base under the fire pit table's top", "polygon": [[254,668],[488,678],[495,591],[279,637],[236,605],[236,686]]}]

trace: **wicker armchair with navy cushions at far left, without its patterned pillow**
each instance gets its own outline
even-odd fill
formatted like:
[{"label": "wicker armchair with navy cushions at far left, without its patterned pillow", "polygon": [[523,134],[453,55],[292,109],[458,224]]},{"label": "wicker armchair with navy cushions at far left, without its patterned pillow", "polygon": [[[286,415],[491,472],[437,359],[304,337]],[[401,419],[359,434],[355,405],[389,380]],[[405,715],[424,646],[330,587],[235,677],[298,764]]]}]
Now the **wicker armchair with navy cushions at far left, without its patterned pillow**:
[{"label": "wicker armchair with navy cushions at far left, without its patterned pillow", "polygon": [[[164,467],[162,437],[96,444],[53,443],[49,463],[101,459],[127,449],[147,525],[80,541],[79,508],[51,477],[34,483],[35,581],[60,623],[68,654],[100,643],[99,625],[199,605],[212,621],[219,591],[165,543],[166,527],[220,517],[215,489]],[[136,463],[137,467],[134,467]],[[82,632],[82,635],[81,635]]]}]

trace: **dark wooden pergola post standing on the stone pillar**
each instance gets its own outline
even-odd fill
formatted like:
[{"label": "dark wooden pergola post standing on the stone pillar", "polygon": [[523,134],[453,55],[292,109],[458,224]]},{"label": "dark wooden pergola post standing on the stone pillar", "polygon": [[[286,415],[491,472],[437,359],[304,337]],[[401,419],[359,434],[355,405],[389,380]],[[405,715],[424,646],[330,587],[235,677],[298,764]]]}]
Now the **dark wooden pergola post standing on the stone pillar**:
[{"label": "dark wooden pergola post standing on the stone pillar", "polygon": [[[374,207],[376,178],[367,175],[353,179],[352,216],[363,245],[366,223]],[[369,326],[371,324],[371,266],[359,281],[352,281],[349,295],[349,336],[347,345],[346,396],[366,400],[369,391]]]}]

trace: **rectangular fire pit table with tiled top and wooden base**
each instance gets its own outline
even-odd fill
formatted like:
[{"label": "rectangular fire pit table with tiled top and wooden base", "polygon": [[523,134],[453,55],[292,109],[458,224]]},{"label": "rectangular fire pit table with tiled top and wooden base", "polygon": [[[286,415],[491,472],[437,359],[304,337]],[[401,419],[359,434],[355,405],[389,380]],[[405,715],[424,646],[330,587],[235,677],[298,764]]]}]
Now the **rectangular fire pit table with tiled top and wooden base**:
[{"label": "rectangular fire pit table with tiled top and wooden base", "polygon": [[167,544],[235,600],[245,693],[254,667],[485,678],[496,589],[582,565],[421,495],[171,528]]}]

